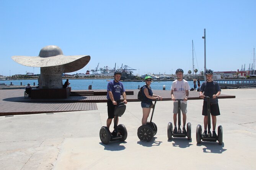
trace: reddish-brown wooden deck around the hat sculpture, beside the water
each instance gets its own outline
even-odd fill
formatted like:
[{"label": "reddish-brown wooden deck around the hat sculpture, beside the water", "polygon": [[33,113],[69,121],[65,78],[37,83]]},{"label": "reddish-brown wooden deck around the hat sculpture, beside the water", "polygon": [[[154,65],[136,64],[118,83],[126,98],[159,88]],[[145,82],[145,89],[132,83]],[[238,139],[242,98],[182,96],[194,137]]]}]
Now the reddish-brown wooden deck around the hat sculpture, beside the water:
[{"label": "reddish-brown wooden deck around the hat sculpture, beside the water", "polygon": [[[72,90],[72,91],[98,91],[106,90]],[[139,101],[138,91],[134,95],[127,95],[128,102]],[[163,101],[171,100],[170,90],[153,90],[154,94],[160,95]],[[235,98],[235,96],[221,94],[218,98]],[[189,100],[200,99],[199,92],[189,91]],[[97,110],[96,103],[106,102],[104,96],[69,96],[67,99],[31,99],[24,98],[24,89],[0,90],[0,116],[17,114],[38,114],[68,111]]]}]

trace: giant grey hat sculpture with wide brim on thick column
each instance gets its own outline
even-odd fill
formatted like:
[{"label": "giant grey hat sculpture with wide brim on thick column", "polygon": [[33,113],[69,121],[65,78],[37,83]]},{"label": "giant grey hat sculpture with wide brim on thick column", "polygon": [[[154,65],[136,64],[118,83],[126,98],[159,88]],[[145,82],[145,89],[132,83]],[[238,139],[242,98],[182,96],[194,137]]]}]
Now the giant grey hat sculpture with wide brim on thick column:
[{"label": "giant grey hat sculpture with wide brim on thick column", "polygon": [[41,75],[38,78],[39,88],[62,88],[62,73],[80,70],[91,59],[89,55],[65,56],[56,45],[42,48],[38,56],[11,58],[24,66],[41,67]]}]

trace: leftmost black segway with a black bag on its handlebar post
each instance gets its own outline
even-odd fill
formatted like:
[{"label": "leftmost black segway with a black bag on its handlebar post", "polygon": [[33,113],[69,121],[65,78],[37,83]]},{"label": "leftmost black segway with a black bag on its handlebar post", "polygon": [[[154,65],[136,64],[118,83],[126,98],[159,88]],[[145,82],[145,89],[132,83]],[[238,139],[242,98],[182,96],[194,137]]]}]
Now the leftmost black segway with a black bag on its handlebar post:
[{"label": "leftmost black segway with a black bag on its handlebar post", "polygon": [[121,102],[117,104],[114,109],[114,131],[110,133],[109,128],[106,126],[101,127],[99,131],[99,138],[102,143],[108,144],[109,141],[125,141],[127,138],[126,127],[122,124],[117,126],[117,117],[121,117],[126,111],[126,105]]}]

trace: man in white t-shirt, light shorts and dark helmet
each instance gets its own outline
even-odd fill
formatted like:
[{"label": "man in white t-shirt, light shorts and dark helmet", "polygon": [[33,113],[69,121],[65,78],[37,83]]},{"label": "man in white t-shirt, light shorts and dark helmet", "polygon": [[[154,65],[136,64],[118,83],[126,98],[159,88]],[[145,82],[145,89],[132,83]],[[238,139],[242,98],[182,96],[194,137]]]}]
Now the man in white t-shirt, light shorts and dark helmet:
[{"label": "man in white t-shirt, light shorts and dark helmet", "polygon": [[[174,133],[177,133],[177,114],[178,114],[178,101],[176,99],[183,99],[181,101],[181,112],[183,117],[183,133],[186,132],[186,119],[187,119],[187,100],[189,95],[189,84],[183,79],[183,69],[177,69],[176,75],[177,80],[174,80],[171,85],[171,99],[173,102],[173,122],[174,122]],[[181,132],[181,131],[180,131]]]}]

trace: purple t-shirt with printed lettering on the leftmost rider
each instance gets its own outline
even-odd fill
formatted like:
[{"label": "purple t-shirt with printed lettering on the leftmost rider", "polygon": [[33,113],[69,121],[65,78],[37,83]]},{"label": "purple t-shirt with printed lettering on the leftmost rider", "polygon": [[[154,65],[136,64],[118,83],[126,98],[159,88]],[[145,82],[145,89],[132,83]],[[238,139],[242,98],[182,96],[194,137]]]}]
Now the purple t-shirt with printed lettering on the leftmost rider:
[{"label": "purple t-shirt with printed lettering on the leftmost rider", "polygon": [[[114,80],[111,80],[110,82],[108,82],[107,90],[108,92],[109,91],[112,92],[115,101],[120,100],[122,93],[126,91],[124,89],[124,85],[121,82],[115,82]],[[107,99],[110,99],[108,93],[107,93]]]}]

